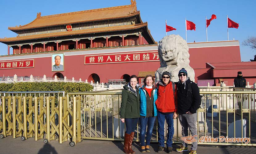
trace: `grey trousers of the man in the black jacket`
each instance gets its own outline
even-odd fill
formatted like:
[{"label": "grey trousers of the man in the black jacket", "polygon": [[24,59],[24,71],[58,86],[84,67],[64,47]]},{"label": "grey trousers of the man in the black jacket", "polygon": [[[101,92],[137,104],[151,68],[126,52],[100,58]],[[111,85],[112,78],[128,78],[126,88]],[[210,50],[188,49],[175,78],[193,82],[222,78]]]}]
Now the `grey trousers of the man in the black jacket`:
[{"label": "grey trousers of the man in the black jacket", "polygon": [[[182,128],[182,137],[188,136],[188,128],[191,132],[191,136],[197,135],[196,127],[196,113],[194,114],[179,114],[179,120]],[[197,137],[195,137],[197,140]],[[184,141],[182,142],[184,147],[188,147],[188,144]],[[197,142],[192,142],[191,150],[196,150]]]}]

